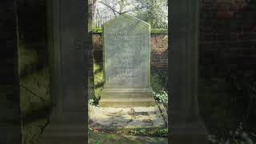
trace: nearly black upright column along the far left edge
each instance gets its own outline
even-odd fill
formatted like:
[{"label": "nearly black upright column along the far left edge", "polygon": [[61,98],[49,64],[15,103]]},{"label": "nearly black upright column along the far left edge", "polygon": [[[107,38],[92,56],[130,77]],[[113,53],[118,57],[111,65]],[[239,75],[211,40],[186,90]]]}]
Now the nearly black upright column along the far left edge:
[{"label": "nearly black upright column along the far left edge", "polygon": [[16,1],[0,2],[0,143],[22,143]]}]

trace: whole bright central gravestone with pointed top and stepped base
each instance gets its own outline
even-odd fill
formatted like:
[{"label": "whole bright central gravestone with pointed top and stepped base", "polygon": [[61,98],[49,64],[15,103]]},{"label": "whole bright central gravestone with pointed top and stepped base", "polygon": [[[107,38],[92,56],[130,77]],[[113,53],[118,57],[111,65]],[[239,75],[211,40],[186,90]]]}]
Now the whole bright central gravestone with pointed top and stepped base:
[{"label": "whole bright central gravestone with pointed top and stepped base", "polygon": [[122,14],[103,25],[104,86],[99,106],[154,106],[150,24]]}]

